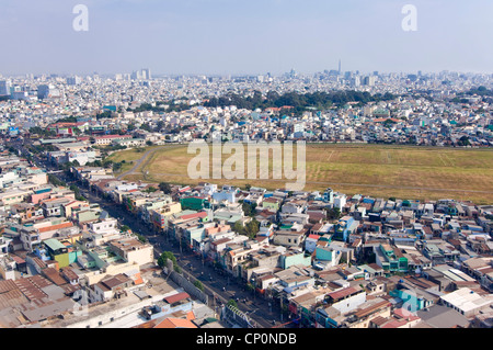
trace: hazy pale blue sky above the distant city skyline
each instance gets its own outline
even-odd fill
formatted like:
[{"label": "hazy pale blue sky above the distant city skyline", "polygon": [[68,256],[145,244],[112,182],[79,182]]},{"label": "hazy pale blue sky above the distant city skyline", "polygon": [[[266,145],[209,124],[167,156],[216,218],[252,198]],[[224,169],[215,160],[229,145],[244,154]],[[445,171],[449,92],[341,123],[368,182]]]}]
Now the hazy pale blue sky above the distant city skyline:
[{"label": "hazy pale blue sky above the distant city skyline", "polygon": [[492,0],[0,0],[0,32],[3,75],[493,72]]}]

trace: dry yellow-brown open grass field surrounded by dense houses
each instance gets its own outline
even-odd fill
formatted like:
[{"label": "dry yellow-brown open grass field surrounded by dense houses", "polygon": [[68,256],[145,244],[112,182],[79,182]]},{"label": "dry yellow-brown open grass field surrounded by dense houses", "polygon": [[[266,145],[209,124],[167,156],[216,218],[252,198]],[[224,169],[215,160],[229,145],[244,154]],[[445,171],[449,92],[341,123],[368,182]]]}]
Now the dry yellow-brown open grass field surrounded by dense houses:
[{"label": "dry yellow-brown open grass field surrounded by dense houses", "polygon": [[[137,160],[139,155],[140,161]],[[152,151],[140,154],[124,150],[110,159],[131,159],[134,165],[138,163],[123,176],[128,180],[182,184],[202,181],[240,187],[250,183],[270,190],[284,188],[289,182],[273,180],[272,177],[266,180],[192,180],[187,167],[194,157],[184,145],[153,147]],[[230,157],[223,155],[222,161]],[[246,155],[244,158],[248,169]],[[144,172],[148,172],[147,176]],[[307,145],[306,174],[306,190],[330,187],[346,194],[493,203],[493,149],[310,144]]]}]

